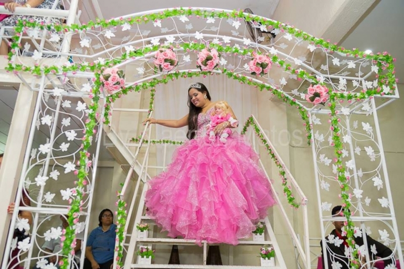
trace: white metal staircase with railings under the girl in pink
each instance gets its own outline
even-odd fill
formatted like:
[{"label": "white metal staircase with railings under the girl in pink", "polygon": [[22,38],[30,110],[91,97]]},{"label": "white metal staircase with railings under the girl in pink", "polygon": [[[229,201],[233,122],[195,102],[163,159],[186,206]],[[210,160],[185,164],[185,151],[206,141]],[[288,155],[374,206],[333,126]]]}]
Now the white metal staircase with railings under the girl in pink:
[{"label": "white metal staircase with railings under the girl in pink", "polygon": [[[115,110],[115,108],[114,108]],[[117,108],[117,111],[120,111],[121,109]],[[126,112],[129,112],[126,110]],[[144,113],[145,111],[140,109],[133,109],[130,110],[131,113]],[[255,120],[255,118],[254,118]],[[256,120],[255,120],[256,121]],[[111,124],[112,125],[112,124]],[[259,126],[259,124],[258,124]],[[259,127],[260,128],[260,127]],[[229,257],[229,264],[228,265],[206,265],[206,258],[207,258],[207,249],[208,249],[208,244],[206,241],[202,242],[202,247],[200,251],[200,259],[195,260],[194,264],[138,264],[138,258],[136,255],[136,251],[139,249],[140,246],[148,246],[150,248],[153,248],[158,245],[179,245],[179,246],[187,246],[187,245],[195,245],[196,240],[190,240],[190,239],[173,239],[173,238],[167,238],[167,237],[161,237],[161,235],[156,235],[156,233],[153,233],[153,231],[158,231],[158,227],[155,228],[155,223],[153,222],[152,219],[150,219],[148,216],[145,216],[145,193],[147,191],[148,185],[144,184],[146,180],[149,180],[151,177],[148,174],[148,158],[150,156],[150,142],[151,142],[151,128],[150,126],[146,126],[141,140],[136,143],[125,143],[123,139],[121,139],[118,135],[118,132],[115,131],[112,127],[111,128],[106,128],[106,132],[108,134],[108,137],[111,139],[111,141],[114,143],[116,148],[119,150],[119,152],[124,156],[126,159],[126,162],[128,164],[131,164],[131,168],[129,169],[128,175],[126,177],[126,181],[123,184],[123,189],[121,192],[121,197],[124,198],[124,200],[128,203],[128,216],[127,216],[127,222],[125,226],[125,231],[127,231],[127,234],[125,235],[125,241],[124,241],[124,249],[126,250],[126,255],[125,255],[125,261],[124,261],[124,268],[252,268],[254,266],[251,265],[235,265],[233,264],[233,257]],[[143,143],[144,139],[147,141]],[[270,140],[266,137],[266,140],[270,142]],[[271,142],[270,142],[271,143]],[[257,143],[253,143],[254,146],[256,146]],[[161,145],[164,146],[164,157],[166,154],[166,144]],[[273,147],[273,145],[271,144]],[[136,147],[136,151],[133,152],[133,149],[131,147]],[[139,152],[143,151],[142,157],[140,157]],[[279,154],[275,151],[275,154],[277,155],[278,159],[280,160],[281,163],[283,163],[282,159],[280,158]],[[261,156],[261,158],[266,157],[265,155]],[[164,164],[165,165],[165,164]],[[264,167],[261,167],[264,170]],[[165,167],[156,167],[153,166],[153,168],[160,168],[164,169]],[[285,167],[286,168],[286,167]],[[298,187],[297,183],[293,179],[293,176],[289,172],[289,170],[286,168],[287,171],[287,177],[288,179],[292,182],[292,185],[296,190],[298,190],[298,194],[301,196],[301,207],[303,208],[303,214],[305,216],[305,229],[307,229],[307,208],[306,208],[306,201],[307,199],[305,198],[304,194],[301,192],[300,188]],[[133,182],[130,180],[132,177],[132,172],[136,172],[138,180]],[[267,178],[268,175],[266,171],[264,170]],[[128,192],[129,185],[130,184],[136,184],[134,187],[134,192]],[[143,189],[142,189],[143,186]],[[308,241],[308,234],[303,237],[303,242],[304,244],[301,243],[299,240],[299,237],[297,233],[294,231],[294,228],[291,224],[291,222],[287,218],[287,213],[285,211],[285,208],[283,207],[281,203],[281,199],[277,194],[277,190],[274,189],[274,186],[271,185],[273,188],[273,193],[275,195],[275,199],[277,200],[278,205],[276,205],[280,210],[282,215],[284,216],[284,221],[286,226],[288,227],[290,231],[291,238],[294,242],[294,245],[296,247],[297,252],[299,253],[299,256],[302,260],[303,267],[309,268],[310,267],[310,252],[309,252],[309,246],[308,242],[305,242],[306,239]],[[137,201],[136,193],[139,193],[139,190],[142,189],[142,194]],[[278,191],[281,192],[281,191]],[[136,203],[138,203],[138,207],[136,207]],[[135,214],[134,216],[132,214]],[[134,218],[133,218],[134,217]],[[276,267],[271,267],[271,268],[287,268],[285,260],[282,255],[281,248],[279,247],[279,244],[277,242],[275,233],[273,231],[273,227],[271,225],[270,220],[268,217],[266,217],[264,220],[262,220],[265,224],[265,241],[253,241],[252,238],[247,239],[247,240],[241,240],[239,243],[239,246],[272,246],[275,250],[276,253]],[[151,232],[149,232],[149,237],[148,238],[138,238],[138,230],[136,228],[136,224],[140,223],[147,223],[151,227]],[[131,227],[131,229],[129,229]],[[305,232],[308,233],[307,230]],[[163,235],[164,236],[164,235]],[[229,256],[232,256],[233,254],[233,248],[238,247],[238,246],[229,246]],[[258,248],[257,248],[258,249]],[[259,260],[258,258],[258,253],[259,251],[257,250],[256,253],[257,256],[257,261]],[[158,255],[158,253],[156,253]],[[179,253],[181,257],[181,251]],[[168,261],[168,259],[167,259]],[[226,263],[226,262],[225,262]],[[261,267],[261,266],[259,266]]]}]

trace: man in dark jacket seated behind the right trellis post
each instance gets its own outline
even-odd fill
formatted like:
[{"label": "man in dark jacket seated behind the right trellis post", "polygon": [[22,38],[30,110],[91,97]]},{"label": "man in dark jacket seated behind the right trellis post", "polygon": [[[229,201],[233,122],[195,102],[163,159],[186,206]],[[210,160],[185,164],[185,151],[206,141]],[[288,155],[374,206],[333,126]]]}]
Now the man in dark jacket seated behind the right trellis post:
[{"label": "man in dark jacket seated behind the right trellis post", "polygon": [[[334,208],[331,210],[331,214],[333,217],[343,217],[343,211],[344,211],[344,209],[342,208],[342,206],[337,205],[337,206],[334,206]],[[349,269],[350,268],[349,258],[345,255],[345,253],[347,252],[347,251],[345,251],[345,249],[348,248],[348,243],[346,242],[346,237],[344,236],[344,233],[342,231],[342,228],[344,227],[344,222],[335,221],[335,222],[333,222],[333,225],[334,225],[335,229],[332,230],[330,235],[328,235],[326,237],[326,246],[327,246],[326,253],[327,253],[327,264],[328,264],[327,268],[329,268],[329,269],[332,269],[332,268]],[[376,259],[376,257],[386,258],[384,260],[385,266],[387,266],[389,264],[394,264],[395,260],[394,260],[393,252],[391,251],[391,249],[386,247],[382,243],[376,241],[375,239],[373,239],[372,237],[370,237],[363,231],[363,236],[365,236],[365,235],[366,235],[366,241],[367,241],[367,251],[370,255],[370,258],[372,260]],[[338,240],[338,239],[340,239],[340,240]],[[358,245],[358,246],[364,245],[364,239],[362,236],[354,237],[354,240],[355,240],[356,245]],[[321,257],[322,257],[322,262],[323,262],[323,268],[326,268],[325,261],[324,261],[324,249],[323,249],[322,241],[320,241],[320,246],[321,246]],[[365,258],[366,258],[365,253],[362,253],[362,257],[360,256],[361,263],[366,262]]]}]

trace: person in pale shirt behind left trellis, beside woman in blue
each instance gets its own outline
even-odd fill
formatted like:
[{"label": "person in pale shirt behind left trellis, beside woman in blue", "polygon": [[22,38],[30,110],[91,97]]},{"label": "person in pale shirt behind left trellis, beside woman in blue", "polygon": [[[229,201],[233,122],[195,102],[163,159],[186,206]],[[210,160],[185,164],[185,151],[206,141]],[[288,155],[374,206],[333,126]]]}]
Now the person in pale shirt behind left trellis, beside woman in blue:
[{"label": "person in pale shirt behind left trellis, beside woman in blue", "polygon": [[[60,220],[62,221],[62,225],[60,228],[66,229],[69,226],[67,222],[68,216],[60,216]],[[74,262],[76,265],[72,264],[71,268],[79,268],[80,264],[80,255],[81,255],[81,241],[83,240],[83,233],[79,233],[76,235],[76,246],[74,247]],[[60,237],[53,239],[51,238],[49,241],[45,239],[45,243],[42,245],[42,249],[45,255],[49,255],[51,253],[55,254],[53,256],[47,257],[49,264],[53,263],[57,268],[60,268],[59,261],[61,260],[61,256],[59,256],[59,252],[61,251],[61,240]],[[39,267],[35,266],[33,269],[39,269]]]}]

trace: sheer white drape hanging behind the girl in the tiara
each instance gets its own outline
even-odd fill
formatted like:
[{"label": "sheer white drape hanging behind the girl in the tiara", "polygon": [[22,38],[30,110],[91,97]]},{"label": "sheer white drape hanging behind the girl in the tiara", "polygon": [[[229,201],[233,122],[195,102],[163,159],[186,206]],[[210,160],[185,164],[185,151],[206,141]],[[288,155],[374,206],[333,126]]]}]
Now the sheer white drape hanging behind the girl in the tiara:
[{"label": "sheer white drape hanging behind the girl in the tiara", "polygon": [[[205,78],[179,79],[165,85],[156,87],[154,102],[154,118],[164,120],[176,120],[184,117],[189,112],[187,105],[188,87],[195,82],[201,82],[209,90],[212,101],[225,100],[232,107],[237,119],[240,132],[246,119],[251,115],[257,115],[257,89],[249,85],[240,84],[223,75],[212,75]],[[187,140],[188,127],[179,129],[167,128],[156,125],[156,139],[169,139],[176,141]],[[166,164],[171,162],[172,152],[176,146],[167,146]],[[163,145],[157,146],[157,165],[162,165]]]}]

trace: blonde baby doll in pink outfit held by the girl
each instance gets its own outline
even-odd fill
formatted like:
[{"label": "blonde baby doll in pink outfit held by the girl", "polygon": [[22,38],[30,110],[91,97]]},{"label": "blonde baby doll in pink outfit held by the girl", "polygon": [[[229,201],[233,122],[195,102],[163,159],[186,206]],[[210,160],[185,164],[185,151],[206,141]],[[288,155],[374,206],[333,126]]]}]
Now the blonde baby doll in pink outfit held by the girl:
[{"label": "blonde baby doll in pink outfit held by the girl", "polygon": [[[237,127],[239,125],[239,122],[230,114],[229,108],[230,106],[226,101],[218,101],[214,105],[214,111],[210,115],[210,124],[207,126],[207,133],[210,141],[215,141],[216,136],[213,129],[220,123],[230,122],[232,127]],[[232,134],[232,130],[229,127],[226,127],[220,134],[220,142],[226,143],[230,134]]]}]

